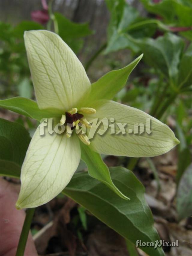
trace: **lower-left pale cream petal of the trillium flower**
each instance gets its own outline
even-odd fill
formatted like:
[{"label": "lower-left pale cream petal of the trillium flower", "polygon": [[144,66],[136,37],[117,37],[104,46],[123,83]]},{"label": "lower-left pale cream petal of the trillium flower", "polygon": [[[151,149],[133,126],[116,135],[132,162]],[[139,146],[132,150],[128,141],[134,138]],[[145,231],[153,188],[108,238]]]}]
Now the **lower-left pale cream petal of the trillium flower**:
[{"label": "lower-left pale cream petal of the trillium flower", "polygon": [[77,136],[45,132],[32,137],[21,168],[21,190],[16,207],[32,208],[49,202],[68,184],[80,161]]}]

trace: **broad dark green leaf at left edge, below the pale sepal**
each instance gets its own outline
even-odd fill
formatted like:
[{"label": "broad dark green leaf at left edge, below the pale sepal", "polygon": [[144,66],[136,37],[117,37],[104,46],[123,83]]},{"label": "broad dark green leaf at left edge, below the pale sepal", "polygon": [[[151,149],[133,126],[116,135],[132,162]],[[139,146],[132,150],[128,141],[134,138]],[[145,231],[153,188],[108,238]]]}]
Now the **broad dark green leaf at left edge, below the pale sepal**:
[{"label": "broad dark green leaf at left edge, below the pale sepal", "polygon": [[14,176],[20,172],[31,138],[20,124],[0,119],[0,173]]}]

